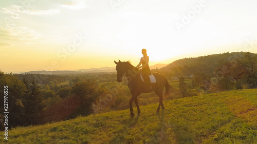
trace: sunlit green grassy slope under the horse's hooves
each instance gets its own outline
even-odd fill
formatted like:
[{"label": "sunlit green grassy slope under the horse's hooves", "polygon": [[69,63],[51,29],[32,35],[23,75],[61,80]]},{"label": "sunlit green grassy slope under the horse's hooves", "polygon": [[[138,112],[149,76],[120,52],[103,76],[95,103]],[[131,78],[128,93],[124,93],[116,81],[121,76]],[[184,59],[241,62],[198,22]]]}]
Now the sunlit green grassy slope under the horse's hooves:
[{"label": "sunlit green grassy slope under the horse's hooves", "polygon": [[19,127],[0,143],[257,143],[256,93],[248,89],[166,100],[159,113],[157,104],[149,105],[133,118],[124,110]]}]

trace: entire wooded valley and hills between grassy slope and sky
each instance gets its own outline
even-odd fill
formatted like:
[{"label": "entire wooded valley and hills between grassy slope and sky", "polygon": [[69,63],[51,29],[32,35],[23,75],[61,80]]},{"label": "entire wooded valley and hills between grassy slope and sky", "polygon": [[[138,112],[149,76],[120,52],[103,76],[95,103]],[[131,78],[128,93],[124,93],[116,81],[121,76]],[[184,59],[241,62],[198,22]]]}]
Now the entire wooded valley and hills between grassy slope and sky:
[{"label": "entire wooded valley and hills between grassy slope and sky", "polygon": [[[174,87],[172,93],[164,97],[166,100],[257,88],[257,54],[249,52],[184,58],[151,71],[164,74]],[[128,109],[131,94],[126,87],[127,80],[117,83],[116,78],[116,73],[44,75],[0,71],[0,92],[3,94],[4,87],[8,86],[10,127],[41,125]],[[140,105],[156,102],[158,97],[153,93],[139,96]],[[0,113],[3,112],[1,103]],[[0,127],[3,129],[2,124]]]}]

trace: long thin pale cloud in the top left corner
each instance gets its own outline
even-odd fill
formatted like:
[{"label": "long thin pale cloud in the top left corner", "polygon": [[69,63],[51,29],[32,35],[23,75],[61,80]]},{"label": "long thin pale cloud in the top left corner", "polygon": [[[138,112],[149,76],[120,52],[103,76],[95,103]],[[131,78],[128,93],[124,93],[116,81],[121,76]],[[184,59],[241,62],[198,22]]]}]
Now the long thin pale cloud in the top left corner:
[{"label": "long thin pale cloud in the top left corner", "polygon": [[2,8],[1,12],[9,13],[17,18],[17,15],[24,13],[24,14],[33,14],[33,15],[54,15],[59,14],[59,9],[49,9],[49,10],[37,10],[37,9],[24,9],[22,6],[11,5],[7,8]]}]

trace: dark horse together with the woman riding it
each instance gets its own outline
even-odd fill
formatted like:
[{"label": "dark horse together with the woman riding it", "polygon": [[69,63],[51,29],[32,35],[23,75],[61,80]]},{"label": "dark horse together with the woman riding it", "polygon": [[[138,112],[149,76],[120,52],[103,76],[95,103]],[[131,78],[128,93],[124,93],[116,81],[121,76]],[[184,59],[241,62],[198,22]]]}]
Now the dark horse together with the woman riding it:
[{"label": "dark horse together with the woman riding it", "polygon": [[[126,76],[128,79],[127,87],[130,89],[132,97],[130,99],[130,112],[131,116],[134,116],[132,102],[135,101],[137,107],[137,113],[140,115],[140,108],[138,105],[138,96],[141,93],[150,93],[155,92],[159,96],[159,106],[157,108],[157,112],[160,110],[160,106],[164,109],[162,103],[162,91],[165,87],[166,95],[169,94],[169,88],[171,86],[168,83],[167,78],[160,73],[151,74],[149,68],[149,56],[146,54],[146,50],[142,49],[143,57],[141,57],[139,64],[134,67],[128,61],[120,61],[114,63],[116,64],[117,71],[117,81],[121,83],[123,76]],[[142,65],[142,66],[141,66]],[[139,69],[142,68],[142,69]],[[152,75],[155,79],[154,82],[151,83],[150,75]]]}]

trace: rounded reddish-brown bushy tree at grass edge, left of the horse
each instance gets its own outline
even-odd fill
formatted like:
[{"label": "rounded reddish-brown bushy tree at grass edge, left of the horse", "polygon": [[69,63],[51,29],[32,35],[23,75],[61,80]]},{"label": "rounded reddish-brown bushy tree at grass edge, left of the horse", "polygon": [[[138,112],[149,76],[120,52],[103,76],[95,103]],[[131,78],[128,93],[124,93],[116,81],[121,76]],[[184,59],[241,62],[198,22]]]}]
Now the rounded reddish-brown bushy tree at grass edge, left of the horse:
[{"label": "rounded reddish-brown bushy tree at grass edge, left of the horse", "polygon": [[44,111],[45,122],[47,121],[60,121],[76,116],[87,116],[93,113],[91,105],[98,100],[101,95],[107,93],[106,88],[97,85],[96,80],[82,80],[76,83],[69,95],[64,99],[47,107]]}]

